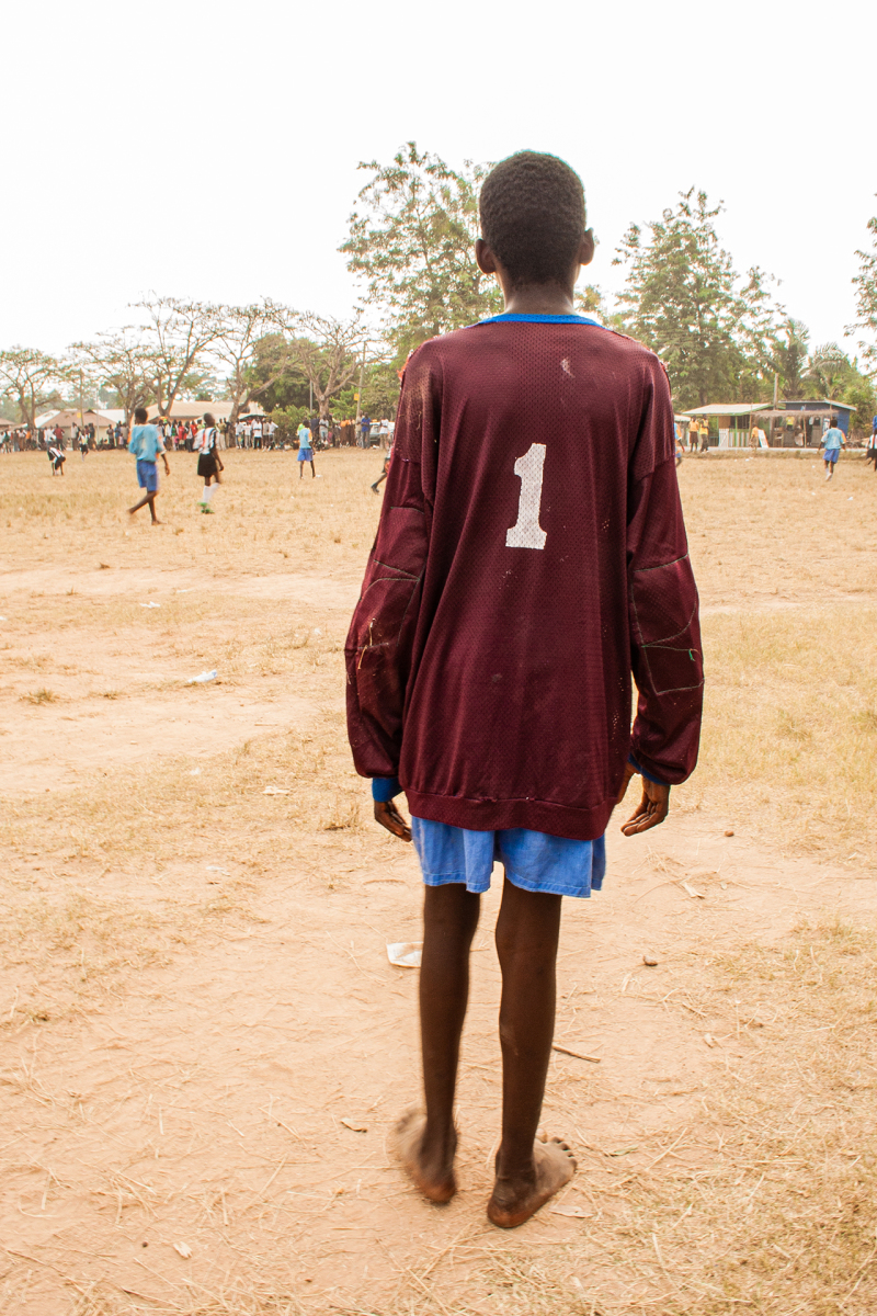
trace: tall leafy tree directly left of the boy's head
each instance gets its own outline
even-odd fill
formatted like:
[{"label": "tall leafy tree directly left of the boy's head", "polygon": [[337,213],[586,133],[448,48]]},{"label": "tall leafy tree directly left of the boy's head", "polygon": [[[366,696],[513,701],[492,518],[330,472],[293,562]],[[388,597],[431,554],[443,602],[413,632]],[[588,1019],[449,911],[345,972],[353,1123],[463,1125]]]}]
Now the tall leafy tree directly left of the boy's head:
[{"label": "tall leafy tree directly left of the boy's head", "polygon": [[408,142],[392,164],[360,163],[372,178],[350,216],[341,247],[347,268],[366,283],[397,361],[435,334],[502,309],[492,275],[475,259],[479,190],[488,167],[452,170]]}]

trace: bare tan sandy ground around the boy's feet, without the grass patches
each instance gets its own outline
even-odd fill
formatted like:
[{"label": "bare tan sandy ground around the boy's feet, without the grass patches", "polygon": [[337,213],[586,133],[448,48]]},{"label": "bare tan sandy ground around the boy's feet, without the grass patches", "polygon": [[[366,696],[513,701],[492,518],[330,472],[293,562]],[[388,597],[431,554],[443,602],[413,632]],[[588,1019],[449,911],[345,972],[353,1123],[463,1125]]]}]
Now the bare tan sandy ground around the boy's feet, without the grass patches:
[{"label": "bare tan sandy ground around the boy's feet, without the grass patches", "polygon": [[[757,995],[703,1008],[710,965],[802,915],[874,911],[872,870],[765,848],[730,801],[630,841],[614,821],[604,892],[564,911],[556,1041],[579,1055],[555,1053],[544,1109],[580,1173],[509,1238],[484,1215],[501,1083],[494,874],[464,1038],[462,1191],[446,1208],[419,1200],[387,1152],[418,1099],[417,974],[385,950],[419,936],[413,851],[368,821],[302,824],[295,780],[243,787],[227,767],[291,729],[313,737],[316,762],[337,733],[362,557],[101,570],[62,553],[0,578],[3,865],[24,911],[0,965],[0,1312],[488,1316],[511,1309],[497,1270],[509,1255],[551,1255],[569,1300],[602,1280],[611,1296],[598,1240],[625,1184],[707,1163],[698,1120],[770,1026]],[[752,604],[717,591],[707,605]],[[277,607],[284,636],[320,637],[305,678],[268,641],[247,658]],[[187,684],[214,665],[218,683]],[[54,697],[34,703],[39,688]],[[145,836],[104,862],[53,830],[53,801],[103,778],[124,808],[164,770],[204,783],[181,858]],[[367,820],[364,790],[338,771]],[[292,794],[263,796],[272,783]],[[42,795],[45,846],[14,830]],[[158,826],[160,794],[154,808]]]}]

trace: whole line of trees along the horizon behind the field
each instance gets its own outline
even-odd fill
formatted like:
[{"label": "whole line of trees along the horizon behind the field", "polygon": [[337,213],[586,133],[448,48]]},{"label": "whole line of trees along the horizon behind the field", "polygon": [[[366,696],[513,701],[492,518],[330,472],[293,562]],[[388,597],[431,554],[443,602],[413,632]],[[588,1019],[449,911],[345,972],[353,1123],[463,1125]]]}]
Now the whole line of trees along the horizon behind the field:
[{"label": "whole line of trees along the horizon behind the field", "polygon": [[[408,142],[369,178],[350,216],[341,254],[362,288],[348,320],[297,312],[264,297],[247,307],[153,293],[137,322],[71,345],[62,358],[32,347],[0,350],[0,400],[9,420],[33,428],[53,405],[170,411],[178,399],[231,401],[231,421],[258,405],[284,428],[308,413],[337,418],[358,405],[391,415],[398,371],[418,343],[502,308],[496,280],[475,261],[479,191],[488,166],[451,168]],[[722,205],[690,188],[660,218],[631,224],[613,263],[625,268],[610,299],[594,284],[580,311],[631,334],[663,359],[677,411],[710,401],[770,401],[813,392],[877,412],[877,217],[853,278],[860,357],[810,343],[802,320],[776,300],[759,267],[740,275],[721,245]]]}]

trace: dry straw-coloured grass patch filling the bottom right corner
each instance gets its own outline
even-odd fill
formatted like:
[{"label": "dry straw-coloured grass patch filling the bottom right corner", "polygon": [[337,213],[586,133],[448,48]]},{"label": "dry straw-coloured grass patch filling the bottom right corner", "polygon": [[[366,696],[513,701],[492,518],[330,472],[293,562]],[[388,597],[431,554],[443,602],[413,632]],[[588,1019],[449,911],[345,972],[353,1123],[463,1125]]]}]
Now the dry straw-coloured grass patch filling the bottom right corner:
[{"label": "dry straw-coloured grass patch filling the bottom right corner", "polygon": [[480,1274],[508,1298],[475,1308],[872,1316],[876,933],[802,923],[705,973],[696,1008],[723,1038],[724,1070],[705,1090],[703,1119],[664,1134],[660,1170],[632,1171],[614,1200],[597,1192],[581,1245],[534,1266],[510,1242]]}]

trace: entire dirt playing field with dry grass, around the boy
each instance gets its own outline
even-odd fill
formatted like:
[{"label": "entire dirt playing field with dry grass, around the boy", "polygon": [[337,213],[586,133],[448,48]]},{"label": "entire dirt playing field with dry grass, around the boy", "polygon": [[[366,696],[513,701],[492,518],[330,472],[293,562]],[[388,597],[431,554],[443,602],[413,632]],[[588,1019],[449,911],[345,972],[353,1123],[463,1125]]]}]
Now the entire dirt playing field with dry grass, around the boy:
[{"label": "entire dirt playing field with dry grass, around the boy", "polygon": [[877,476],[682,467],[702,762],[565,904],[556,1041],[593,1059],[555,1054],[544,1125],[580,1171],[505,1234],[498,874],[459,1196],[385,1150],[421,895],[342,661],[380,458],[230,453],[212,517],[171,462],[151,529],[125,454],[0,458],[0,1313],[873,1316]]}]

